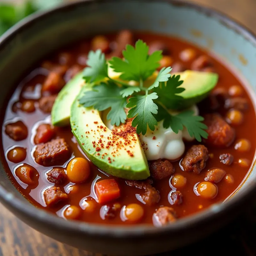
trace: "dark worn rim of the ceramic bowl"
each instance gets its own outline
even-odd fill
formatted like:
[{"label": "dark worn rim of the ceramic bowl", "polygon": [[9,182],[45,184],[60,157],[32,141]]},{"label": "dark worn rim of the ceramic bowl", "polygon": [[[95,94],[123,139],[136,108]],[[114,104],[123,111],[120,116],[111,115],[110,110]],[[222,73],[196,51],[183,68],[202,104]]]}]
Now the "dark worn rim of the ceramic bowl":
[{"label": "dark worn rim of the ceramic bowl", "polygon": [[[68,10],[72,7],[77,7],[79,5],[101,3],[101,2],[127,2],[127,0],[78,0],[71,3],[61,4],[58,7],[55,7],[48,11],[41,11],[35,14],[32,14],[21,20],[19,23],[14,25],[8,31],[0,37],[0,51],[6,44],[8,44],[16,34],[20,33],[36,20],[42,20],[48,15],[54,15],[57,12],[62,12]],[[232,29],[239,35],[243,36],[251,44],[256,46],[256,35],[246,28],[244,25],[241,25],[239,22],[228,17],[226,14],[216,11],[212,8],[187,2],[184,0],[137,0],[140,2],[164,2],[172,5],[177,5],[181,7],[187,7],[194,9],[200,13],[203,13],[206,16],[217,19],[224,26]],[[256,162],[253,163],[255,167]],[[250,169],[250,170],[251,170]],[[234,208],[242,204],[242,199],[247,199],[256,192],[256,179],[251,180],[247,185],[247,188],[243,191],[240,191],[240,194],[230,198],[225,204],[218,203],[208,207],[206,210],[190,215],[188,217],[182,218],[177,222],[174,222],[172,225],[167,225],[164,227],[154,227],[149,225],[106,225],[106,224],[95,224],[87,222],[78,222],[78,221],[67,221],[63,218],[57,217],[49,212],[46,212],[44,209],[39,209],[32,204],[25,204],[18,197],[13,196],[11,192],[8,192],[5,188],[0,185],[0,201],[5,206],[11,206],[12,209],[17,210],[21,214],[25,214],[30,219],[46,223],[51,225],[53,229],[65,230],[65,232],[76,233],[79,232],[84,235],[96,235],[96,236],[108,236],[111,237],[136,237],[136,236],[150,236],[162,233],[180,233],[186,231],[188,228],[198,227],[198,223],[201,225],[209,222],[211,219],[220,218],[225,212],[232,212]],[[25,206],[25,207],[24,207]],[[111,227],[111,228],[110,228]]]}]

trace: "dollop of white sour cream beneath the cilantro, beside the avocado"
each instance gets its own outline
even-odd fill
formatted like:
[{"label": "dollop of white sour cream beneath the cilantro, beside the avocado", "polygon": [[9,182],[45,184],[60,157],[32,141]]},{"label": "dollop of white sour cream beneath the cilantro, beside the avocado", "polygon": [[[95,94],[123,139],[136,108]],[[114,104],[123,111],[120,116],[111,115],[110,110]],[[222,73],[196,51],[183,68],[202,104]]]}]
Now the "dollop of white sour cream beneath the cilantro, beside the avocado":
[{"label": "dollop of white sour cream beneath the cilantro, beside the avocado", "polygon": [[[196,105],[189,109],[194,111],[195,116],[198,116],[199,111]],[[171,113],[177,115],[179,112],[172,111]],[[113,126],[110,124],[110,121],[104,121],[105,125],[112,130]],[[148,160],[157,160],[159,158],[175,160],[179,158],[185,151],[183,139],[188,141],[194,140],[186,128],[176,134],[170,127],[165,129],[163,121],[158,122],[154,132],[148,129],[145,135],[140,134],[140,142]]]}]

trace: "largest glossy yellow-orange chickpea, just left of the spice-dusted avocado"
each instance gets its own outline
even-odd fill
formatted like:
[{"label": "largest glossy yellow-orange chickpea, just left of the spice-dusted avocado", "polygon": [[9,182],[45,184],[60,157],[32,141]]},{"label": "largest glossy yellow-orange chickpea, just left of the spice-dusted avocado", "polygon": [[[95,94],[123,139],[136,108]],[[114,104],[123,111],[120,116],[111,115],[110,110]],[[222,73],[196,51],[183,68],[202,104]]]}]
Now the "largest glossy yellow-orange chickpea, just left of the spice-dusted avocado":
[{"label": "largest glossy yellow-orange chickpea, just left of the spice-dusted avocado", "polygon": [[88,161],[82,157],[76,157],[68,163],[67,167],[68,179],[74,183],[86,181],[90,176],[90,165]]}]

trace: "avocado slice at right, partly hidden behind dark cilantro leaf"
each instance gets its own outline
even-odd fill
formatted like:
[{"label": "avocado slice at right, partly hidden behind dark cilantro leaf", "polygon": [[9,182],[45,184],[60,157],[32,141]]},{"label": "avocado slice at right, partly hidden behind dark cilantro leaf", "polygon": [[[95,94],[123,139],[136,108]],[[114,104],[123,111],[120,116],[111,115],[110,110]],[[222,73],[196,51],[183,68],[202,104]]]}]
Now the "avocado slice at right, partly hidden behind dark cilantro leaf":
[{"label": "avocado slice at right, partly hidden behind dark cilantro leaf", "polygon": [[186,90],[179,95],[183,97],[181,100],[175,100],[168,108],[182,110],[190,108],[192,105],[206,98],[218,82],[218,74],[211,72],[201,72],[194,70],[186,70],[180,73],[172,73],[172,75],[180,75],[180,80],[184,82],[180,87]]}]

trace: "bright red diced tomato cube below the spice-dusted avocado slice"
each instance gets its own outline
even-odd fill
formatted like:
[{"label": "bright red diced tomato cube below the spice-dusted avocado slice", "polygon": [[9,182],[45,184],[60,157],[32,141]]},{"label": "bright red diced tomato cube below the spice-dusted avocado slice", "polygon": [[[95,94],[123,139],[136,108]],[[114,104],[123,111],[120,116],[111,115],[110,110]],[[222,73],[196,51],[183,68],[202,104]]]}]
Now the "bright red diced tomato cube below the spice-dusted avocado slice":
[{"label": "bright red diced tomato cube below the spice-dusted avocado slice", "polygon": [[120,197],[120,189],[114,179],[97,182],[95,190],[100,204],[108,203]]}]

